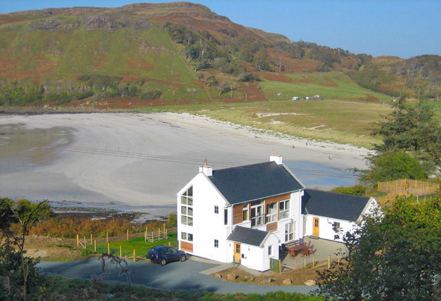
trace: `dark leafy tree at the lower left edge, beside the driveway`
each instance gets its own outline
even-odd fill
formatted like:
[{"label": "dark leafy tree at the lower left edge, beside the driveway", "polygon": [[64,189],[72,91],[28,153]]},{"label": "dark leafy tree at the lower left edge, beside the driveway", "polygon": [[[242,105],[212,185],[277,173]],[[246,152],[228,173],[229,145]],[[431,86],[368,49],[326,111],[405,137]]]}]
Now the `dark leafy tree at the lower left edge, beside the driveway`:
[{"label": "dark leafy tree at the lower left edge, beside the driveway", "polygon": [[[28,234],[28,227],[50,215],[52,210],[45,201],[31,204],[28,200],[0,198],[0,271],[3,277],[8,278],[10,287],[15,288],[6,291],[10,298],[27,300],[28,291],[35,291],[37,284],[42,281],[36,268],[38,261],[25,256],[25,236]],[[14,223],[20,225],[19,231],[11,230]],[[14,247],[18,249],[17,252]],[[21,289],[19,297],[17,288]]]}]

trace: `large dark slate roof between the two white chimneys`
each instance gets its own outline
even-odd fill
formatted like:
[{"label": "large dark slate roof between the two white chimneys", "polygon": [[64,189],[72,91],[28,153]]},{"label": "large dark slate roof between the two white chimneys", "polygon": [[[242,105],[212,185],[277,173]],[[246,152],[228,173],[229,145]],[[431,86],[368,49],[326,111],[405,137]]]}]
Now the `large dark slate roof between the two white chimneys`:
[{"label": "large dark slate roof between the two white chimneys", "polygon": [[303,188],[283,165],[275,162],[217,169],[208,178],[230,204],[258,200]]}]

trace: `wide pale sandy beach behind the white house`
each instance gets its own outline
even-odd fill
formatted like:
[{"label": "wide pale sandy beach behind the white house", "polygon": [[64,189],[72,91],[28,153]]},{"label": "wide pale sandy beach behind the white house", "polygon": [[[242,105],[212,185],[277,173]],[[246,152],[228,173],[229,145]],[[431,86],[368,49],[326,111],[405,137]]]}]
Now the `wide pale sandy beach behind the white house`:
[{"label": "wide pale sandy beach behind the white house", "polygon": [[263,162],[275,151],[305,185],[320,189],[339,178],[354,183],[345,169],[365,168],[368,153],[190,114],[1,116],[0,191],[31,200],[173,205],[205,159],[220,169]]}]

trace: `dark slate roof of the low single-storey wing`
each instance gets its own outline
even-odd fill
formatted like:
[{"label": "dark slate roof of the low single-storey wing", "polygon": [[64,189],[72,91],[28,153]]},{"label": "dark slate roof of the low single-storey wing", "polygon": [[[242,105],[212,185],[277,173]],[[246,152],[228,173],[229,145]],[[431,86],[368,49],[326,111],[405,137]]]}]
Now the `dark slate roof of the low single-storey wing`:
[{"label": "dark slate roof of the low single-storey wing", "polygon": [[302,196],[302,214],[325,216],[339,220],[356,221],[369,198],[305,189]]}]

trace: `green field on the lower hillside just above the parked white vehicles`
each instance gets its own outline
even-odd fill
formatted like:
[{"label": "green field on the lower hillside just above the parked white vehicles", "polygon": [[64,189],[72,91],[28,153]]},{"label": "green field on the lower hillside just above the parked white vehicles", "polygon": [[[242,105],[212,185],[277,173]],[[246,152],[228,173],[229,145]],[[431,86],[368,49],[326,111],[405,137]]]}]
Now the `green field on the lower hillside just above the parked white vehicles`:
[{"label": "green field on the lower hillside just above the parked white vehicles", "polygon": [[360,87],[341,72],[286,74],[291,83],[263,81],[260,83],[265,95],[271,99],[287,99],[293,96],[314,96],[323,98],[345,98],[354,100],[387,100],[391,96]]}]

